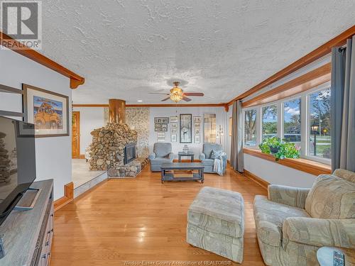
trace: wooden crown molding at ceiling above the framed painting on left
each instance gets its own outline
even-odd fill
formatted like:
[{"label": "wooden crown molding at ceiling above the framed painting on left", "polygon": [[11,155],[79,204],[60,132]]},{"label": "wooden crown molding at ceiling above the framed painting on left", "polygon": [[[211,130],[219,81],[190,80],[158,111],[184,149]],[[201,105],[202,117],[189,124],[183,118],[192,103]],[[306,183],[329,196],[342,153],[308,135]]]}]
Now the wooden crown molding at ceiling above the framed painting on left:
[{"label": "wooden crown molding at ceiling above the framed painting on left", "polygon": [[39,52],[28,48],[26,45],[23,45],[23,43],[18,42],[18,40],[11,38],[9,35],[6,35],[1,31],[0,45],[9,48],[10,50],[13,50],[13,52],[17,52],[18,54],[23,55],[24,57],[27,57],[35,62],[38,62],[40,65],[44,65],[45,67],[48,67],[51,70],[54,70],[55,72],[58,72],[65,77],[69,77],[71,89],[76,89],[85,82],[84,77],[80,77],[80,75],[75,74],[74,72],[68,70],[62,65],[59,65],[53,60],[50,60],[48,57],[45,57]]}]

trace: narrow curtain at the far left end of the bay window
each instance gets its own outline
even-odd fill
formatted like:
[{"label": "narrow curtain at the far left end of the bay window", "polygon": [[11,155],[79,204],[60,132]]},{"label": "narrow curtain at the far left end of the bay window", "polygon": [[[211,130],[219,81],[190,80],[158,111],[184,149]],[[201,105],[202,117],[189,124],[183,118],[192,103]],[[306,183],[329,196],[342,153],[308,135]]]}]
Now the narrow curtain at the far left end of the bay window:
[{"label": "narrow curtain at the far left end of the bay window", "polygon": [[243,117],[240,100],[233,104],[231,120],[231,167],[238,172],[244,172]]}]

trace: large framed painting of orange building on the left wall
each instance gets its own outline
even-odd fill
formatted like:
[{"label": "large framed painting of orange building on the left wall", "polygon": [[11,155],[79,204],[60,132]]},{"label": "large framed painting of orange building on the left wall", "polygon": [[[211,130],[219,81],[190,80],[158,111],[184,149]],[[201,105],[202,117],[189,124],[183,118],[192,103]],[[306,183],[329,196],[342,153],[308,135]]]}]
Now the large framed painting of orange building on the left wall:
[{"label": "large framed painting of orange building on the left wall", "polygon": [[35,137],[69,135],[69,97],[22,84],[25,121],[35,125]]}]

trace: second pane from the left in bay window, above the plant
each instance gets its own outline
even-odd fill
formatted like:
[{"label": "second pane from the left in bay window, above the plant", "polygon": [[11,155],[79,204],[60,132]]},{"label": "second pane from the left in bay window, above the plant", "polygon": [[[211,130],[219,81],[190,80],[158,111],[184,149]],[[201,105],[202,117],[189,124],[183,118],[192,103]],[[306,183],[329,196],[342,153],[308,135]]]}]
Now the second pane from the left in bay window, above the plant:
[{"label": "second pane from the left in bay window, above the plant", "polygon": [[265,106],[263,114],[263,135],[262,139],[272,138],[278,135],[278,107],[276,105]]}]

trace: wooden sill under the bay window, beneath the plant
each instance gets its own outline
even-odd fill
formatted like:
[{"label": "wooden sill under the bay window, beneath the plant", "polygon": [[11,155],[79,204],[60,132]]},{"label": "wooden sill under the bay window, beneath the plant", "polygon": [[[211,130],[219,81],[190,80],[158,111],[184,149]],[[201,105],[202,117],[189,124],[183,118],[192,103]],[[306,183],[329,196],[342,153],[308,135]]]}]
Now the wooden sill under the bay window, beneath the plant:
[{"label": "wooden sill under the bay window, beneath the plant", "polygon": [[264,160],[268,160],[271,162],[275,162],[278,163],[280,165],[284,165],[287,167],[291,167],[295,170],[300,170],[302,172],[307,172],[309,174],[315,174],[315,175],[319,175],[319,174],[330,174],[332,173],[332,169],[330,167],[330,165],[325,165],[323,163],[320,162],[315,162],[312,160],[307,160],[307,159],[283,159],[283,160],[278,160],[275,161],[275,157],[273,157],[273,155],[270,154],[266,154],[266,153],[261,153],[261,150],[254,150],[254,149],[249,149],[249,148],[244,148],[243,149],[244,153],[249,154],[249,155],[253,155],[255,157],[259,157],[261,159]]}]

